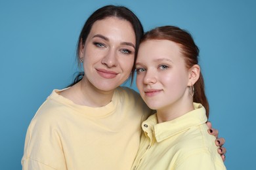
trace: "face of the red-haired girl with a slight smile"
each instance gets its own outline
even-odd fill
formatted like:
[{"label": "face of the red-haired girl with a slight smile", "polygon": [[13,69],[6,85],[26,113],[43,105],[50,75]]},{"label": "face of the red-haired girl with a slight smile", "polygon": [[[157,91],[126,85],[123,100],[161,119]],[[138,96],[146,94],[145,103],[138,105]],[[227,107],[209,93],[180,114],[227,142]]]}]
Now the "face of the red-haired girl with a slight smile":
[{"label": "face of the red-haired girl with a slight smile", "polygon": [[177,43],[167,40],[142,42],[136,69],[137,87],[151,109],[168,111],[181,108],[184,102],[192,102],[188,95],[189,71]]}]

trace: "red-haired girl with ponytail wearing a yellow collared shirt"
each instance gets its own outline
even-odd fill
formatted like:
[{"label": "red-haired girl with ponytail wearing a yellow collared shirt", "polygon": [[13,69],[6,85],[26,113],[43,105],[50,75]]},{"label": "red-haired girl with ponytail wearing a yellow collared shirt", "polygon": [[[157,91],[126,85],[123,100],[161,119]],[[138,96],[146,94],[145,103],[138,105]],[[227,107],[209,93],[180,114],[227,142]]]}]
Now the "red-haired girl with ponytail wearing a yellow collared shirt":
[{"label": "red-haired girl with ponytail wearing a yellow collared shirt", "polygon": [[190,33],[179,27],[157,27],[142,38],[137,87],[156,113],[142,123],[134,169],[226,169],[206,132],[209,104],[198,55]]}]

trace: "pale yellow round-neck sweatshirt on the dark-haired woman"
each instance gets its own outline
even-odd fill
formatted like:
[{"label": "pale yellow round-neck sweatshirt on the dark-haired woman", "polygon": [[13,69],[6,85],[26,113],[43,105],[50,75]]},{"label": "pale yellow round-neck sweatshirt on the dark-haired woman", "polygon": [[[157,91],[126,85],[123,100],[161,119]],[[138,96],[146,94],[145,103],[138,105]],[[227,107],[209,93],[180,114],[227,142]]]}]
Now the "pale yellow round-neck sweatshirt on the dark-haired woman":
[{"label": "pale yellow round-neck sweatshirt on the dark-haired woman", "polygon": [[117,88],[104,107],[86,107],[54,90],[26,134],[23,169],[131,169],[140,124],[150,112],[140,95]]}]

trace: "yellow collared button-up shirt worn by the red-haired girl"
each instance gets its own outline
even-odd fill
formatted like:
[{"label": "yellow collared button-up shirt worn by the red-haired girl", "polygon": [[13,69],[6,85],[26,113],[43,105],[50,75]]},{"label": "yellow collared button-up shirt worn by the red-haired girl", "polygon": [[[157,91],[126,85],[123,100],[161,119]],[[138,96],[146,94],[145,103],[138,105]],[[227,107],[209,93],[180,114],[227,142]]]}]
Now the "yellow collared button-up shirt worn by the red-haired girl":
[{"label": "yellow collared button-up shirt worn by the red-haired girl", "polygon": [[158,124],[156,114],[142,123],[140,149],[133,169],[226,169],[217,152],[215,137],[207,133],[205,109]]}]

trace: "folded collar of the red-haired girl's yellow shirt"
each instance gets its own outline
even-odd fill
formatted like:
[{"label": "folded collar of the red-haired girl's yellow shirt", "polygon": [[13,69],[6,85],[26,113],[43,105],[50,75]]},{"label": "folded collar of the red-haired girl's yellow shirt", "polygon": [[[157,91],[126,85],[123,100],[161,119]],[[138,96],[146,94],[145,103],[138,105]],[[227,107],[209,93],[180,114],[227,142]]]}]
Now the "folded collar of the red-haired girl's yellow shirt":
[{"label": "folded collar of the red-haired girl's yellow shirt", "polygon": [[204,107],[200,103],[193,104],[195,110],[187,112],[179,118],[169,122],[158,124],[157,116],[156,114],[153,114],[142,124],[142,129],[144,130],[145,135],[149,136],[150,133],[154,133],[156,141],[160,143],[181,131],[204,124],[207,121]]}]

